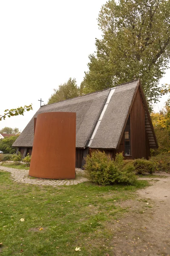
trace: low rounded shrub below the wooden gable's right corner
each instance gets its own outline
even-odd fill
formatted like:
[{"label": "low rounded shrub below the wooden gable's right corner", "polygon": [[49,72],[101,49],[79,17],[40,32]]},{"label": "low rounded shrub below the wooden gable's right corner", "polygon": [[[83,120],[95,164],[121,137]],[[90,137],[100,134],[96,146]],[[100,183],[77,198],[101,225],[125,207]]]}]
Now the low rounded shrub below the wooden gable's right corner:
[{"label": "low rounded shrub below the wooden gable's right corner", "polygon": [[135,167],[136,174],[152,174],[154,171],[156,171],[156,164],[144,158],[135,159],[133,166]]}]

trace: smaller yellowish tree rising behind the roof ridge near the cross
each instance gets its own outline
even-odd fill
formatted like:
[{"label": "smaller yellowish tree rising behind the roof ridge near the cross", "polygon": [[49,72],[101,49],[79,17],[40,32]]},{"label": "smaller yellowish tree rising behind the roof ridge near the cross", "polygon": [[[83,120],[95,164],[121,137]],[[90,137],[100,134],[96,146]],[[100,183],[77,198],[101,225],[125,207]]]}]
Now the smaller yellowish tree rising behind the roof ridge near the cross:
[{"label": "smaller yellowish tree rising behind the roof ridge near the cross", "polygon": [[58,90],[54,89],[54,91],[55,92],[48,100],[48,104],[71,99],[80,95],[80,89],[76,84],[76,80],[71,78],[69,78],[66,83],[59,85]]}]

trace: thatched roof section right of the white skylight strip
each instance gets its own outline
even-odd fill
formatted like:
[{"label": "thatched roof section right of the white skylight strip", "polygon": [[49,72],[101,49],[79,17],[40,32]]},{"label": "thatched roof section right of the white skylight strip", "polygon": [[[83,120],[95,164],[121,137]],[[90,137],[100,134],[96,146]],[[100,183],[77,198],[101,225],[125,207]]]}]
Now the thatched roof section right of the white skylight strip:
[{"label": "thatched roof section right of the white skylight strip", "polygon": [[90,148],[117,148],[138,81],[116,87]]}]

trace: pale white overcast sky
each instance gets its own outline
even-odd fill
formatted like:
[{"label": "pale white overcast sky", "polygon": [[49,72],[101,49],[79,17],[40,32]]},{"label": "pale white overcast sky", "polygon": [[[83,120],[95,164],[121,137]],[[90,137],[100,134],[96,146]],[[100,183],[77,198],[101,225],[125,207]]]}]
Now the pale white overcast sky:
[{"label": "pale white overcast sky", "polygon": [[[97,17],[106,0],[0,1],[0,114],[33,104],[33,111],[0,121],[23,130],[53,88],[69,77],[80,85],[88,55],[101,37]],[[170,70],[162,79],[170,84]],[[155,106],[158,111],[167,96]]]}]

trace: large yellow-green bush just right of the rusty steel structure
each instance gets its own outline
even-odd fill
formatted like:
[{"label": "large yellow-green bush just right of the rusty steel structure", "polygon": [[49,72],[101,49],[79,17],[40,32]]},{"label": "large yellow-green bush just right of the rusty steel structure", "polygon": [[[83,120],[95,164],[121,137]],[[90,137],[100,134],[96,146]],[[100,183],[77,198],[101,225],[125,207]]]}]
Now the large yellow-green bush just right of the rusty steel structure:
[{"label": "large yellow-green bush just right of the rusty steel structure", "polygon": [[123,154],[116,154],[115,161],[111,160],[104,152],[93,151],[91,157],[86,157],[85,163],[86,177],[100,185],[113,183],[132,184],[136,177],[134,167],[124,166]]}]

